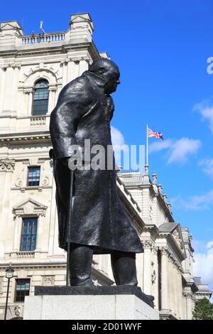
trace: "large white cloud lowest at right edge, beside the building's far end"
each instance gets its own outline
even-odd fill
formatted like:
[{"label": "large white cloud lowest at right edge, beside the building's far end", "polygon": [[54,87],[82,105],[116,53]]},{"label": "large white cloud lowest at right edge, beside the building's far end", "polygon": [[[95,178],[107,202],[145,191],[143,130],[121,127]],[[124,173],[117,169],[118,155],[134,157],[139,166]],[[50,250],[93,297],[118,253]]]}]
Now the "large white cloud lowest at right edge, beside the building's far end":
[{"label": "large white cloud lowest at right edge, beside the building's far end", "polygon": [[202,284],[213,289],[213,240],[206,243],[202,252],[195,249],[194,276],[201,276]]}]

